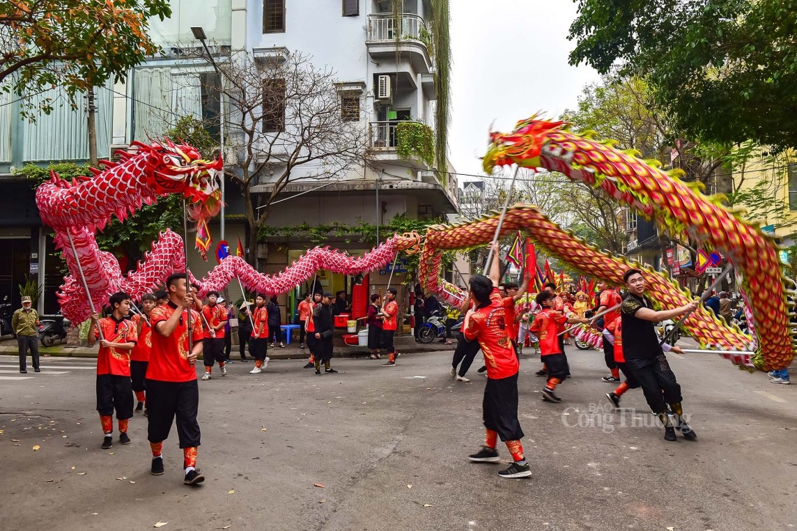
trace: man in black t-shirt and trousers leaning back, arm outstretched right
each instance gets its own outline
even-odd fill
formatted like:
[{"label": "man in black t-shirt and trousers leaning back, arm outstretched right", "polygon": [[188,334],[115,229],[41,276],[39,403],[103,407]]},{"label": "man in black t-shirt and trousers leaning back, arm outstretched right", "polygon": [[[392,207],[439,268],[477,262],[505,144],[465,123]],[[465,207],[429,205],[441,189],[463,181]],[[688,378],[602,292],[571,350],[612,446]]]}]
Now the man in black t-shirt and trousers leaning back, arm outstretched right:
[{"label": "man in black t-shirt and trousers leaning back, arm outstretched right", "polygon": [[669,368],[662,344],[654,329],[654,323],[672,319],[697,309],[696,301],[671,310],[656,311],[645,296],[645,278],[639,269],[628,269],[622,276],[628,294],[620,306],[622,319],[622,353],[626,358],[628,376],[636,380],[645,393],[650,410],[654,411],[664,425],[664,439],[674,441],[675,427],[667,415],[667,404],[677,415],[677,428],[690,441],[697,435],[683,418],[681,386]]}]

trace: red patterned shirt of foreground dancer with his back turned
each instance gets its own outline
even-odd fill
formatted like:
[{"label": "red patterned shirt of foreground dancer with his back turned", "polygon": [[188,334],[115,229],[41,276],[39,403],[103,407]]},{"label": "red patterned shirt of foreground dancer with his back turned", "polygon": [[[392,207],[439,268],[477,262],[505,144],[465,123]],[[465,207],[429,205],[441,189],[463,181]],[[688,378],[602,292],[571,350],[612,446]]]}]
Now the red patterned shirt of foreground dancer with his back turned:
[{"label": "red patterned shirt of foreground dancer with his back turned", "polygon": [[506,323],[506,309],[501,296],[496,300],[491,295],[489,305],[470,314],[464,332],[465,339],[479,341],[485,356],[487,376],[493,380],[513,376],[520,368],[515,349],[507,336]]}]

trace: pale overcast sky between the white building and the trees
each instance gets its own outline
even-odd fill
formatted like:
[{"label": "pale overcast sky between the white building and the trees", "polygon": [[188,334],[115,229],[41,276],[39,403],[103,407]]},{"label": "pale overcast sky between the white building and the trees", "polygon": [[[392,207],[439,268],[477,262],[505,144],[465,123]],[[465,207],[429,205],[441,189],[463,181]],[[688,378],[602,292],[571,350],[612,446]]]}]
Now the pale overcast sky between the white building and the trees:
[{"label": "pale overcast sky between the white building and the trees", "polygon": [[[508,131],[542,111],[556,118],[575,108],[583,86],[598,81],[589,66],[567,64],[570,0],[452,0],[450,159],[461,173],[480,173],[490,124]],[[470,178],[460,176],[459,181]]]}]

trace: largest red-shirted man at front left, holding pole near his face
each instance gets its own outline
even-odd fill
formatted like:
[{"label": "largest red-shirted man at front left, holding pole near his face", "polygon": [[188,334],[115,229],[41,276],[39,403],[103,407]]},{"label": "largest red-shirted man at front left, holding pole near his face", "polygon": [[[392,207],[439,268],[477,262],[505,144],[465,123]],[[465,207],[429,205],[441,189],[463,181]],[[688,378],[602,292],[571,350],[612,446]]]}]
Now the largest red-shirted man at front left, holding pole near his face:
[{"label": "largest red-shirted man at front left, holding pole near his face", "polygon": [[195,301],[186,284],[186,273],[168,277],[169,301],[152,310],[152,351],[147,366],[147,439],[152,451],[151,474],[162,475],[163,441],[176,420],[186,474],[183,482],[197,485],[205,481],[205,476],[196,468],[201,433],[197,422],[199,387],[194,367],[202,354],[202,322],[199,312],[192,309]]}]

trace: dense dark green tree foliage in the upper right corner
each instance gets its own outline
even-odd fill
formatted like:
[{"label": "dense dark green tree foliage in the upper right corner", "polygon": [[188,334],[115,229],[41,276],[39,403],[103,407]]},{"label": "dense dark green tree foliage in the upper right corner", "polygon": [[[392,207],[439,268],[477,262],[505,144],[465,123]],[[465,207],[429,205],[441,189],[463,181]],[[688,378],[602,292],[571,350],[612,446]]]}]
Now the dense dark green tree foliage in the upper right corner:
[{"label": "dense dark green tree foliage in the upper right corner", "polygon": [[578,0],[570,62],[650,80],[685,137],[797,147],[797,0]]}]

